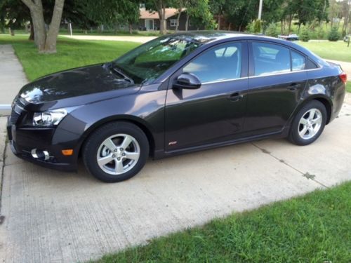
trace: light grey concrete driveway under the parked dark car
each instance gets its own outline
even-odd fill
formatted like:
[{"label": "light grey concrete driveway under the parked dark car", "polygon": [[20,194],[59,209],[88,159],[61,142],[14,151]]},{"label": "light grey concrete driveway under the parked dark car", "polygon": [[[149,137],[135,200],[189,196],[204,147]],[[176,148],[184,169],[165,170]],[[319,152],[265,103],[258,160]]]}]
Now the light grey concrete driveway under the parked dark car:
[{"label": "light grey concrete driveway under the parked dark car", "polygon": [[[5,118],[0,118],[4,150]],[[5,150],[1,262],[82,262],[214,217],[351,180],[351,105],[307,147],[263,140],[148,161],[105,184],[60,173]],[[1,153],[2,153],[1,150]],[[1,156],[1,155],[0,155]]]}]

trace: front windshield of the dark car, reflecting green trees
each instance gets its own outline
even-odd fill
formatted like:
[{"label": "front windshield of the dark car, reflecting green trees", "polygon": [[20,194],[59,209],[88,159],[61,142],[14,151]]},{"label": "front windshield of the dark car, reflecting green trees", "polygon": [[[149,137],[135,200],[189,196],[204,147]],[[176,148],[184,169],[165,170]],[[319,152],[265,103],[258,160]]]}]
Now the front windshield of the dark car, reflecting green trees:
[{"label": "front windshield of the dark car, reflecting green trees", "polygon": [[135,84],[151,83],[201,43],[189,36],[162,36],[135,48],[113,62]]}]

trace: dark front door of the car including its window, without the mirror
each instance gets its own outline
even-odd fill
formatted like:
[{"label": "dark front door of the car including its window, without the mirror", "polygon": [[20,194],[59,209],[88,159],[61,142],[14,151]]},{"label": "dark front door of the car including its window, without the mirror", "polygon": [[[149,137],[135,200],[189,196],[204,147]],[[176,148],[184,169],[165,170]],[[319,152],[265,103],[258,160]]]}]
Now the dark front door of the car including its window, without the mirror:
[{"label": "dark front door of the car including its window, without the mirror", "polygon": [[[200,88],[175,88],[192,73]],[[165,149],[175,151],[237,138],[246,114],[248,51],[245,41],[205,50],[171,76],[165,109]]]}]

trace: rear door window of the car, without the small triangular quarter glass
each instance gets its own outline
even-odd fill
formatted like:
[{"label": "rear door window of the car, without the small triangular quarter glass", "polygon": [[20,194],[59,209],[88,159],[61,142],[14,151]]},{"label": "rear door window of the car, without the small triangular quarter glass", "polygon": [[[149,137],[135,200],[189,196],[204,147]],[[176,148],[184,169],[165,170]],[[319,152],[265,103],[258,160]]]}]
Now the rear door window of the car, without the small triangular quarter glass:
[{"label": "rear door window of the car, without the small triangular quarter glass", "polygon": [[253,42],[255,76],[290,72],[290,50],[271,43]]}]

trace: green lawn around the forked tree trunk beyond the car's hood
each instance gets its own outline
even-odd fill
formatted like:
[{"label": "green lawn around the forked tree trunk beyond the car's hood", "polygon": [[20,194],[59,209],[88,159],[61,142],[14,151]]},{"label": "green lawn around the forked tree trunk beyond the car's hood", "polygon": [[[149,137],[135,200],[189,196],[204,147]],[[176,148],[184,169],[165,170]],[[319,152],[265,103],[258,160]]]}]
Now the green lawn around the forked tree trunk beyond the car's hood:
[{"label": "green lawn around the forked tree trunk beyond the car's hood", "polygon": [[6,43],[13,45],[30,81],[63,69],[111,61],[139,45],[133,42],[79,41],[62,37],[58,40],[58,53],[46,55],[39,54],[27,36],[0,35],[0,45]]}]

